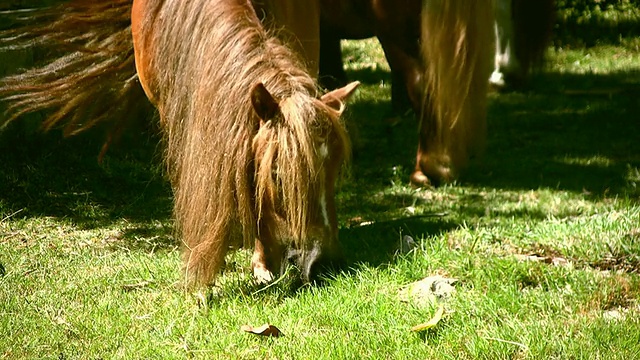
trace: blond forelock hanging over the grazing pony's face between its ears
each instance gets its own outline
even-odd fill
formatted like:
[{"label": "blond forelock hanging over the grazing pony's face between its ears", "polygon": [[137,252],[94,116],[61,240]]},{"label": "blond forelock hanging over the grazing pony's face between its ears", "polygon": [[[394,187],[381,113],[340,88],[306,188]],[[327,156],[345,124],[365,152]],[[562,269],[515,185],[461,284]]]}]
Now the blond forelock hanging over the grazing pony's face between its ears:
[{"label": "blond forelock hanging over the grazing pony's face between its ears", "polygon": [[[256,160],[256,199],[261,206],[267,194],[271,199],[278,197],[278,210],[290,231],[287,235],[302,247],[319,203],[313,200],[325,191],[326,167],[340,166],[348,158],[349,140],[339,112],[315,96],[296,93],[279,104],[281,117],[263,126],[254,139],[260,156]],[[337,153],[325,153],[329,148]],[[327,156],[337,162],[327,161]]]}]

